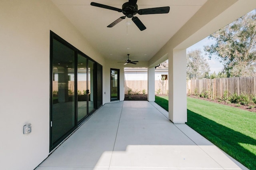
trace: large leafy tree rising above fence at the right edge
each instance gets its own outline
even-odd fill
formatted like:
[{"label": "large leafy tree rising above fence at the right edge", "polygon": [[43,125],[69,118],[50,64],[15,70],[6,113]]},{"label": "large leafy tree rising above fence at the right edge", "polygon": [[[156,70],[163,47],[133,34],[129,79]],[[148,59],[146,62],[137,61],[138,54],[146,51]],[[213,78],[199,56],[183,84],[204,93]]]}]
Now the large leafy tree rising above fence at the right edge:
[{"label": "large leafy tree rising above fence at the right edge", "polygon": [[210,35],[215,44],[204,46],[209,58],[216,54],[228,77],[256,76],[256,11]]}]

